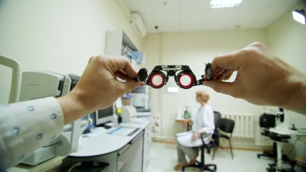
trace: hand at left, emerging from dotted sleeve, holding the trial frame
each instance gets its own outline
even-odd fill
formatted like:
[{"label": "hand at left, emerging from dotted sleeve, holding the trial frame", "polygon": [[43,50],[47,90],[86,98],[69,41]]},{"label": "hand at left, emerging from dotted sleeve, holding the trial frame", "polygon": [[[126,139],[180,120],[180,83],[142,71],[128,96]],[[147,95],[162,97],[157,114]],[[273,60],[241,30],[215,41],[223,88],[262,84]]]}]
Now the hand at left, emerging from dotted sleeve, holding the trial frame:
[{"label": "hand at left, emerging from dotted sleeve, holding the trial frame", "polygon": [[[119,82],[117,77],[126,82]],[[127,58],[91,57],[75,88],[68,95],[58,98],[65,124],[97,109],[105,109],[123,94],[144,86],[144,82],[132,80],[136,77],[137,72]]]}]

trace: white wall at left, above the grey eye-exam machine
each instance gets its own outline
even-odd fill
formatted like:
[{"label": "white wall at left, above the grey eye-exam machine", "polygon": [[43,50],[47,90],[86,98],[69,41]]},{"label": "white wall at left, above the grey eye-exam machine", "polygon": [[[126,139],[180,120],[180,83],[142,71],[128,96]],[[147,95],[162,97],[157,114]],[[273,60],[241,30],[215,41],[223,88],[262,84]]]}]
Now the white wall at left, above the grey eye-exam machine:
[{"label": "white wall at left, above the grey eye-exam machine", "polygon": [[[22,71],[82,74],[89,57],[104,53],[107,30],[124,30],[138,49],[142,44],[111,0],[0,1],[0,23],[0,54]],[[0,104],[8,102],[10,77],[0,66]]]}]

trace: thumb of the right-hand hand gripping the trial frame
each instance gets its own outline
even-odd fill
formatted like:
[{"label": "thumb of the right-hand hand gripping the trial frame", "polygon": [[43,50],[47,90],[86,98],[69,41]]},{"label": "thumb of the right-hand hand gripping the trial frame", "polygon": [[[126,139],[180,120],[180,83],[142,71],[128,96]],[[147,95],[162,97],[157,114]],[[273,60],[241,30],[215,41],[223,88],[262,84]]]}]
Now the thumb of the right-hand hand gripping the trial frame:
[{"label": "thumb of the right-hand hand gripping the trial frame", "polygon": [[238,87],[235,82],[224,82],[218,80],[204,81],[203,85],[212,88],[217,93],[223,93],[237,98]]}]

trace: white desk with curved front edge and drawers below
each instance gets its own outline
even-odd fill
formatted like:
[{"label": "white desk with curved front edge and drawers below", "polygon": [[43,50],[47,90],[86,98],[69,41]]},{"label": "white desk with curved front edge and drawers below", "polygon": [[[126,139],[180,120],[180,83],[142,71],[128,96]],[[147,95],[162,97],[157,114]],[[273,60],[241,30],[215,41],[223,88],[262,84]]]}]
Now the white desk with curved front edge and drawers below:
[{"label": "white desk with curved front edge and drawers below", "polygon": [[140,129],[132,136],[120,136],[107,134],[114,130],[111,128],[91,137],[80,150],[65,158],[57,170],[66,171],[81,161],[99,161],[109,163],[106,171],[143,171],[148,159],[146,151],[151,139],[151,120],[135,119],[123,125]]}]

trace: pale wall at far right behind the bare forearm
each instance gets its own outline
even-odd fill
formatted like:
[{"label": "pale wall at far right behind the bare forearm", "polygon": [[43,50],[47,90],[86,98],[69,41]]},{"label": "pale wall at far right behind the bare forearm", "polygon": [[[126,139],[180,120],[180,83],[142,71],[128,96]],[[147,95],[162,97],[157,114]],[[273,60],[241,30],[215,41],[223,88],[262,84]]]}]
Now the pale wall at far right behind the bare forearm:
[{"label": "pale wall at far right behind the bare forearm", "polygon": [[[306,10],[306,2],[298,3],[267,28],[267,46],[275,56],[306,74],[306,26],[292,19],[291,12],[294,9]],[[288,119],[289,125],[306,125],[306,115],[287,111],[285,118]],[[291,145],[294,139],[290,141]],[[291,148],[291,145],[288,146],[288,149]],[[296,142],[295,148],[290,155],[293,156],[295,154],[306,156],[306,146],[304,143]]]}]

